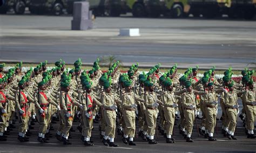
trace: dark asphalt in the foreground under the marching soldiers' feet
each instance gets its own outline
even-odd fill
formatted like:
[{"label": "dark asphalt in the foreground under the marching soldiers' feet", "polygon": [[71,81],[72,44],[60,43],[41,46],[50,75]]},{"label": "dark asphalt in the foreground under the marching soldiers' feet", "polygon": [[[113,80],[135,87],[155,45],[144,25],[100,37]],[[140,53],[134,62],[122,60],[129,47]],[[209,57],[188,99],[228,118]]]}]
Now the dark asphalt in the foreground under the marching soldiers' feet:
[{"label": "dark asphalt in the foreground under the marching soldiers' feet", "polygon": [[[241,101],[239,100],[241,105]],[[221,108],[219,106],[218,117],[221,115]],[[241,108],[240,108],[241,109]],[[200,120],[197,120],[200,124]],[[136,121],[138,122],[138,121]],[[179,121],[177,121],[179,122]],[[8,141],[0,142],[1,152],[255,152],[256,151],[256,139],[248,139],[244,133],[244,127],[242,127],[242,121],[238,118],[237,124],[237,133],[235,136],[238,140],[228,140],[228,138],[223,137],[221,134],[221,121],[217,121],[218,125],[218,134],[214,133],[214,137],[218,138],[216,142],[209,142],[203,136],[198,137],[196,123],[194,123],[192,138],[193,143],[188,143],[186,140],[179,134],[178,126],[174,126],[174,138],[176,143],[167,144],[165,143],[165,138],[158,133],[155,135],[158,144],[148,144],[143,141],[142,138],[134,138],[134,142],[137,143],[136,146],[129,146],[122,142],[121,136],[117,136],[115,142],[119,145],[117,148],[105,147],[99,138],[98,123],[93,124],[92,131],[92,140],[95,144],[93,147],[86,147],[80,141],[80,133],[76,129],[78,122],[73,123],[73,129],[75,132],[71,132],[72,138],[70,142],[71,145],[64,146],[55,138],[55,132],[58,127],[58,123],[52,124],[55,130],[51,130],[50,133],[53,134],[53,137],[50,138],[49,143],[39,143],[37,142],[37,130],[38,123],[33,126],[35,129],[32,129],[32,136],[30,136],[30,142],[20,143],[17,140],[17,126],[18,122],[16,121],[16,128],[11,131],[11,134],[8,136]],[[138,134],[138,127],[136,129]]]}]

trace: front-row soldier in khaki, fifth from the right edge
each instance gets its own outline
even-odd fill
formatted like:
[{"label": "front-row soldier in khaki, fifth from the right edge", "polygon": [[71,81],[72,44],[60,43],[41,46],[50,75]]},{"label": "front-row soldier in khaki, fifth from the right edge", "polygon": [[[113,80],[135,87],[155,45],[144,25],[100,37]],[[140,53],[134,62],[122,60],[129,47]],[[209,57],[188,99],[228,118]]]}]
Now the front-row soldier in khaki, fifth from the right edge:
[{"label": "front-row soldier in khaki, fifth from the right edge", "polygon": [[166,129],[166,143],[174,143],[175,140],[172,137],[174,120],[175,120],[175,109],[178,107],[176,99],[181,99],[180,94],[186,91],[173,92],[173,86],[171,81],[166,81],[165,84],[166,91],[163,93],[161,99],[164,103],[164,116],[165,116],[165,129]]}]

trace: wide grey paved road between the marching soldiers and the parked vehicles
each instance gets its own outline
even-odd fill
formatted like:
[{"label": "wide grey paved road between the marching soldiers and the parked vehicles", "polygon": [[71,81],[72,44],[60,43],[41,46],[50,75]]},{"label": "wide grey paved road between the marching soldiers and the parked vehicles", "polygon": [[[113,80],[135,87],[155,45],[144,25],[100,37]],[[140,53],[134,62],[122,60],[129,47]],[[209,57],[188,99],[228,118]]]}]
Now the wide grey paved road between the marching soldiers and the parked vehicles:
[{"label": "wide grey paved road between the marching soldiers and the parked vehicles", "polygon": [[[97,17],[93,29],[71,31],[71,16],[0,15],[0,61],[92,64],[116,55],[124,65],[243,69],[256,62],[256,22],[227,19]],[[120,37],[136,27],[140,37]],[[252,65],[254,66],[254,65]]]}]

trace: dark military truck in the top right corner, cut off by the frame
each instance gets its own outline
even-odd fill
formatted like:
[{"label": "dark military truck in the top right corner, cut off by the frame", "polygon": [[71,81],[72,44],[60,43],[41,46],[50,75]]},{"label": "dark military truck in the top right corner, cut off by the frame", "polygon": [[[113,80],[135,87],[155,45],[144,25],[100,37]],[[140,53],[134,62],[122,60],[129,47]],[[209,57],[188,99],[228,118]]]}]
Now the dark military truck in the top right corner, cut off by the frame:
[{"label": "dark military truck in the top right corner, cut off by the frame", "polygon": [[228,15],[230,18],[251,19],[255,15],[255,0],[188,0],[189,13],[206,18]]}]

